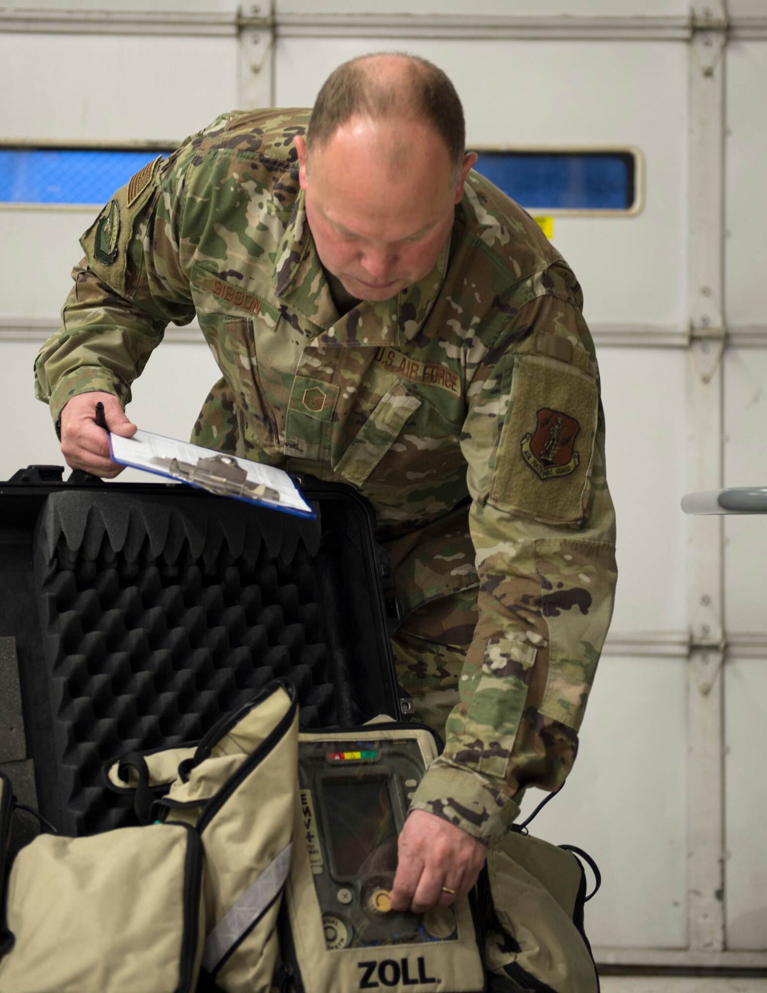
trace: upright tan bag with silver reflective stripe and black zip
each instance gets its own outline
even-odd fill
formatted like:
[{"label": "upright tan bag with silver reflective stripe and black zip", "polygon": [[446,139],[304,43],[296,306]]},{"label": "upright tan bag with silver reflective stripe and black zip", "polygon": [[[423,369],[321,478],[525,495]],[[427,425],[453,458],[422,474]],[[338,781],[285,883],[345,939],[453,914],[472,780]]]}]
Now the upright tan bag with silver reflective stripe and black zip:
[{"label": "upright tan bag with silver reflective stripe and black zip", "polygon": [[295,691],[272,682],[196,748],[125,756],[107,772],[113,787],[133,788],[137,799],[164,791],[150,816],[164,826],[191,825],[202,838],[203,968],[227,993],[259,993],[271,983],[290,864],[297,748]]}]

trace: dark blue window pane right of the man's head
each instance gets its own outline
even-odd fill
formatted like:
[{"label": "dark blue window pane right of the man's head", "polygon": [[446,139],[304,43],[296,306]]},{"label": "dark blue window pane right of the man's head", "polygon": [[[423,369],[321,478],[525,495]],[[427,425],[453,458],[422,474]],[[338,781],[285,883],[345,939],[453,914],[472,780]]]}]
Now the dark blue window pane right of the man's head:
[{"label": "dark blue window pane right of the man's head", "polygon": [[628,211],[630,152],[480,152],[474,167],[528,211]]}]

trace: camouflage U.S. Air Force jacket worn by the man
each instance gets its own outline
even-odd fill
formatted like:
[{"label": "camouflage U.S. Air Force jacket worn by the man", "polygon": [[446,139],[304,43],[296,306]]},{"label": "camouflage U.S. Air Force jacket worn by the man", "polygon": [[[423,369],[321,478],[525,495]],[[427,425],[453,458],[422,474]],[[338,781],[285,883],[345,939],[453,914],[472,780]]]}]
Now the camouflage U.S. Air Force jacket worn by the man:
[{"label": "camouflage U.S. Air Force jacket worn by the man", "polygon": [[[405,608],[478,586],[479,620],[413,806],[493,841],[528,785],[555,788],[572,765],[612,611],[580,288],[535,221],[471,173],[434,270],[340,316],[291,144],[308,115],[223,115],[114,195],[81,239],[37,394],[54,419],[88,390],[127,403],[167,324],[197,315],[223,375],[193,440],[352,484],[382,539],[429,525],[398,570]],[[449,528],[468,497],[473,548]]]}]

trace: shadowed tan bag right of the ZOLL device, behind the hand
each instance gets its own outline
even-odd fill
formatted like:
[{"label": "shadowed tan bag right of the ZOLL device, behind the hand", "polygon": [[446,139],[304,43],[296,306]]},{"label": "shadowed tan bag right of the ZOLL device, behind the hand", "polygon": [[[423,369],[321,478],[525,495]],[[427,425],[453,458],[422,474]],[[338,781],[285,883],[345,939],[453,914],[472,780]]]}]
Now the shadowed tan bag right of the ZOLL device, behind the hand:
[{"label": "shadowed tan bag right of the ZOLL device, behind the hand", "polygon": [[[588,897],[575,851],[596,875]],[[599,871],[585,852],[519,829],[504,835],[488,853],[480,877],[490,993],[598,993],[599,977],[583,930],[583,906],[598,888]]]}]

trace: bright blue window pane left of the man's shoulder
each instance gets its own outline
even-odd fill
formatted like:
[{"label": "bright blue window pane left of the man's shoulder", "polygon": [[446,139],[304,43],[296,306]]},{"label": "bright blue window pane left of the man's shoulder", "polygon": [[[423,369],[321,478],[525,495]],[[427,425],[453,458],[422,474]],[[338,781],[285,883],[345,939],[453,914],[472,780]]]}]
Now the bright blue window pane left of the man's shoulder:
[{"label": "bright blue window pane left of the man's shoulder", "polygon": [[152,151],[0,148],[0,203],[104,204]]}]

